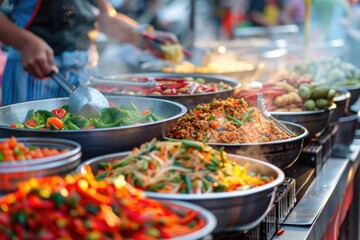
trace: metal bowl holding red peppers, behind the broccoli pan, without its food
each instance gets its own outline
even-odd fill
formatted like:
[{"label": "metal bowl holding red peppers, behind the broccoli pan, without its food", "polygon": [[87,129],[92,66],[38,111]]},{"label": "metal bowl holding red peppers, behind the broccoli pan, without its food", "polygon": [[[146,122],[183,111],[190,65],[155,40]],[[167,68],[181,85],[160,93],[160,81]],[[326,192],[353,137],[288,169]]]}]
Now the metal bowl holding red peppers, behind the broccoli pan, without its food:
[{"label": "metal bowl holding red peppers, behind the broccoli pan, without its food", "polygon": [[[226,99],[231,97],[235,89],[239,88],[241,85],[232,78],[216,75],[205,75],[205,74],[177,74],[177,73],[137,73],[137,74],[124,74],[117,76],[103,76],[95,77],[92,80],[90,86],[97,87],[112,87],[116,86],[116,82],[119,79],[129,79],[134,77],[154,77],[154,78],[185,78],[185,77],[201,77],[205,79],[206,83],[219,83],[224,82],[231,86],[230,89],[218,91],[218,92],[209,92],[209,93],[199,93],[199,94],[182,94],[182,95],[130,95],[130,94],[121,94],[121,93],[111,93],[111,92],[102,92],[107,96],[133,96],[133,97],[151,97],[151,98],[160,98],[166,99],[180,104],[185,105],[189,109],[195,108],[199,103],[210,102],[214,98]],[[101,89],[99,89],[101,91]]]}]

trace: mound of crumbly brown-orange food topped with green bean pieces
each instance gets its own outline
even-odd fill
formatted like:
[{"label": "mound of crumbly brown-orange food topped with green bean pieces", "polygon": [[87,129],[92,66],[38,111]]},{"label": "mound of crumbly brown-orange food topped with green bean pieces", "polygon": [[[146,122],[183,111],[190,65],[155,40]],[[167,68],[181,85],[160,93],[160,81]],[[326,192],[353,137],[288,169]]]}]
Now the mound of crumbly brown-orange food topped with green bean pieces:
[{"label": "mound of crumbly brown-orange food topped with green bean pieces", "polygon": [[177,120],[167,135],[208,143],[261,143],[290,139],[259,109],[243,99],[214,99]]}]

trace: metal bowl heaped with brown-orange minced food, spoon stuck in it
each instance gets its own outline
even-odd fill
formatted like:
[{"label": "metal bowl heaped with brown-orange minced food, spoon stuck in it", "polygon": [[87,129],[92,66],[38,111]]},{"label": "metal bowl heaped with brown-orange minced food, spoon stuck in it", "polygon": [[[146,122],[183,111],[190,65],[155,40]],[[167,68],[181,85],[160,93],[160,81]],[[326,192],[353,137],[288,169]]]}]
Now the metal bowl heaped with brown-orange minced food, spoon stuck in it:
[{"label": "metal bowl heaped with brown-orange minced food, spoon stuck in it", "polygon": [[214,99],[177,119],[166,138],[207,142],[229,153],[286,168],[298,159],[308,131],[295,123],[283,123],[294,135],[286,134],[243,99]]}]

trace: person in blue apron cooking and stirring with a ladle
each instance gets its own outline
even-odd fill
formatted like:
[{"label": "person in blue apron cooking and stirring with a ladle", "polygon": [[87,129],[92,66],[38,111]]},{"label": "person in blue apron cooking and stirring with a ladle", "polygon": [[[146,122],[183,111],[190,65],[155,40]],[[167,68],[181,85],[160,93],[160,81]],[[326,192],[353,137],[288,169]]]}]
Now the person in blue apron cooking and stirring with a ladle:
[{"label": "person in blue apron cooking and stirring with a ladle", "polygon": [[[2,0],[0,0],[1,4]],[[165,57],[151,38],[178,45],[174,34],[148,31],[119,14],[107,0],[10,0],[11,21],[0,13],[0,42],[10,45],[3,73],[3,105],[65,97],[67,92],[48,80],[59,72],[75,86],[88,79],[89,47],[97,30],[112,40],[134,43],[154,56]],[[151,38],[144,37],[151,34]],[[95,35],[96,36],[96,35]],[[154,41],[154,42],[150,42]]]}]

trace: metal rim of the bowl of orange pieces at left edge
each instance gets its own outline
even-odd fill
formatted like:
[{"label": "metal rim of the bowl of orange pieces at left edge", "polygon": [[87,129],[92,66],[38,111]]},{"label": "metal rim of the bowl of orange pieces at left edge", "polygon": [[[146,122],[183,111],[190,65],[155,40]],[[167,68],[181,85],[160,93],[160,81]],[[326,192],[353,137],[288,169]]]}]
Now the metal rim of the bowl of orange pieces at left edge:
[{"label": "metal rim of the bowl of orange pieces at left edge", "polygon": [[[2,142],[5,139],[8,139],[8,138],[0,138],[0,142]],[[29,160],[24,160],[24,161],[13,161],[13,162],[2,162],[2,163],[0,163],[0,169],[6,167],[7,170],[10,170],[12,168],[14,168],[14,170],[18,170],[17,168],[19,168],[19,167],[31,167],[31,166],[36,166],[36,165],[42,165],[42,164],[62,161],[64,159],[68,159],[68,158],[72,157],[73,155],[78,155],[79,153],[81,153],[81,145],[75,141],[68,140],[68,139],[19,137],[19,138],[16,138],[16,140],[23,144],[31,143],[32,145],[36,145],[36,143],[37,144],[46,144],[46,143],[50,142],[50,143],[58,144],[59,146],[60,145],[64,146],[64,147],[69,146],[69,148],[72,147],[72,149],[70,149],[66,153],[62,153],[62,154],[55,155],[55,156],[43,157],[43,158],[39,158],[39,159],[29,159]],[[69,148],[67,148],[67,149],[69,149]]]}]

